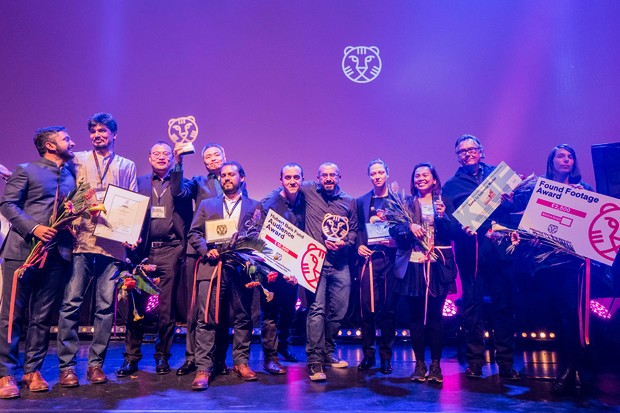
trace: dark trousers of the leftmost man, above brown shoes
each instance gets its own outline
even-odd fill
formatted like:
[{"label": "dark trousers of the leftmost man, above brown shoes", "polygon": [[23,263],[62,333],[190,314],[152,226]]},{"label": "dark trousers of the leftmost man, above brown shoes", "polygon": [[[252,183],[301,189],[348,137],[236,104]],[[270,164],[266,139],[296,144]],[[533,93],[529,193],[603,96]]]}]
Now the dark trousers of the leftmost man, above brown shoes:
[{"label": "dark trousers of the leftmost man, above brown shoes", "polygon": [[[48,253],[42,269],[31,268],[17,280],[13,319],[9,320],[13,273],[23,261],[2,262],[2,306],[0,311],[0,377],[16,373],[19,363],[19,340],[27,326],[24,349],[24,374],[40,371],[47,354],[52,314],[58,311],[64,286],[71,274],[71,262],[60,257],[56,249]],[[29,318],[25,319],[26,310]],[[13,324],[8,343],[9,323]]]}]

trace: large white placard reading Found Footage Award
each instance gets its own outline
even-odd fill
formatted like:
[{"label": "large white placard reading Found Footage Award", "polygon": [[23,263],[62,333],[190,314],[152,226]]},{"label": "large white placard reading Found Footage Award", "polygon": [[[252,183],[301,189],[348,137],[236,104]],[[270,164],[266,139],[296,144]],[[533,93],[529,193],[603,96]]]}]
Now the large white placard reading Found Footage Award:
[{"label": "large white placard reading Found Footage Award", "polygon": [[538,178],[519,228],[611,265],[620,249],[620,200]]}]

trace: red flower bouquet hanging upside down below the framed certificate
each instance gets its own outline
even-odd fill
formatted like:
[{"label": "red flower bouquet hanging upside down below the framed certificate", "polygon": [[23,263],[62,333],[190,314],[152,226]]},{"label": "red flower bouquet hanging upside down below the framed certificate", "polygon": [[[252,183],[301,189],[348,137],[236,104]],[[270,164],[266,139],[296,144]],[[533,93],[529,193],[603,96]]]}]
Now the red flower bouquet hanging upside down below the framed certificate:
[{"label": "red flower bouquet hanging upside down below the framed certificate", "polygon": [[[118,286],[118,298],[127,300],[129,297],[134,299],[134,293],[142,294],[142,292],[151,295],[159,294],[159,278],[152,278],[148,274],[153,273],[157,266],[147,264],[148,258],[143,259],[140,264],[134,265],[131,260],[126,259],[124,264],[120,264],[121,269],[112,279],[116,280]],[[135,303],[135,301],[134,301]],[[144,316],[138,314],[137,308],[133,306],[133,320],[139,321]]]}]

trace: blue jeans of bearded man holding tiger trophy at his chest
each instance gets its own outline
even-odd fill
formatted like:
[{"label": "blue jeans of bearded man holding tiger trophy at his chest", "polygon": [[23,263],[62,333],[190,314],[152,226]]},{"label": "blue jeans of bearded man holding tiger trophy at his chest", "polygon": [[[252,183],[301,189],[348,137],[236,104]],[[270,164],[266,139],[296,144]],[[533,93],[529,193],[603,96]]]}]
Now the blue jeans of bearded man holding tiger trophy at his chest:
[{"label": "blue jeans of bearded man holding tiger trophy at his chest", "polygon": [[308,294],[310,306],[306,323],[308,364],[323,363],[336,349],[334,338],[349,306],[349,267],[324,266],[315,294]]}]

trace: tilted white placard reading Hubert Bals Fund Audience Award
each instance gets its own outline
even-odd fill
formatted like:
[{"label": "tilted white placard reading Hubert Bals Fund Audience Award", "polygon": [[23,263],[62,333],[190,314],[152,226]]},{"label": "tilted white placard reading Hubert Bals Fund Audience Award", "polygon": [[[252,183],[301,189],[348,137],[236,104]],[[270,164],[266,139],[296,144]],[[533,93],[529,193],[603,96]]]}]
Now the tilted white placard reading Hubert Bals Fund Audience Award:
[{"label": "tilted white placard reading Hubert Bals Fund Audience Award", "polygon": [[294,276],[301,286],[316,292],[327,252],[321,243],[273,210],[265,218],[260,238],[272,251],[264,255],[271,268]]}]

